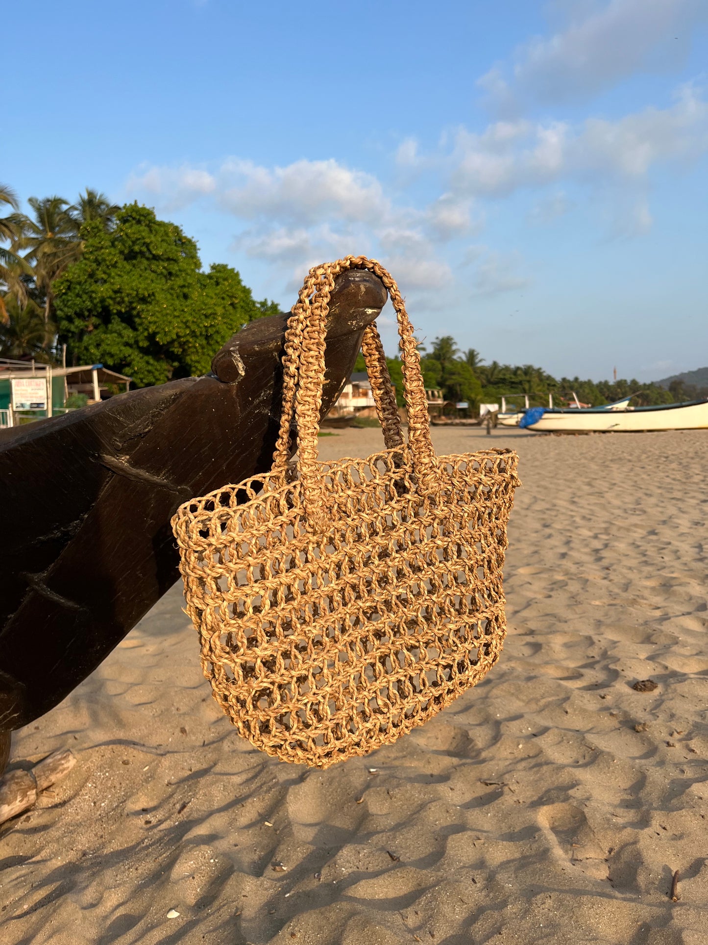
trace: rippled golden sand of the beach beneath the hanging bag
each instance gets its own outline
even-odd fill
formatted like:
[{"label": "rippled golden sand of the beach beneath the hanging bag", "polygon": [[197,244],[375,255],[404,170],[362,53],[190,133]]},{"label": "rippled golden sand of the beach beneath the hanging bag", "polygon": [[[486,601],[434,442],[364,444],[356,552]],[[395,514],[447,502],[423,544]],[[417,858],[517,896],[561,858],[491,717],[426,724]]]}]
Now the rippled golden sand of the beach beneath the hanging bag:
[{"label": "rippled golden sand of the beach beneath the hanging bag", "polygon": [[433,438],[520,455],[487,678],[368,758],[285,765],[211,699],[176,586],[15,734],[10,766],[78,763],[0,828],[4,943],[705,945],[708,431]]}]

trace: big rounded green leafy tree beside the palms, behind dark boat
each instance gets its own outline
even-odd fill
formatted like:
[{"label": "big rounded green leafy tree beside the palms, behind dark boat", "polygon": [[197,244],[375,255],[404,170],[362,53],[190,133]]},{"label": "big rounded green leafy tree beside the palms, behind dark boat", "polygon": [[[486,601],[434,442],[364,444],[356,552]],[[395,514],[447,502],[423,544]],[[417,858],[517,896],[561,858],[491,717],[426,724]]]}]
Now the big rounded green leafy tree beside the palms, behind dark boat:
[{"label": "big rounded green leafy tree beside the palms, behind dark boat", "polygon": [[196,244],[137,203],[81,228],[83,255],[56,283],[59,343],[73,364],[102,363],[138,387],[206,373],[242,325],[275,314],[238,272],[202,272]]}]

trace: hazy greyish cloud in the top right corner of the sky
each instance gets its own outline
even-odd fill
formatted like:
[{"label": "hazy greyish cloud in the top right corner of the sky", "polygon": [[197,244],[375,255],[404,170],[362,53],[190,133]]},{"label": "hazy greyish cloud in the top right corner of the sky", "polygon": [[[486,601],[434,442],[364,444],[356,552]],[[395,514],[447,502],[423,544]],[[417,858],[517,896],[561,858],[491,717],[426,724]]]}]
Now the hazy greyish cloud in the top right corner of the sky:
[{"label": "hazy greyish cloud in the top right corner of the sky", "polygon": [[597,94],[643,69],[683,60],[689,27],[705,18],[704,0],[609,0],[565,4],[569,22],[521,46],[511,67],[479,79],[490,104],[513,112],[524,103],[558,103]]}]

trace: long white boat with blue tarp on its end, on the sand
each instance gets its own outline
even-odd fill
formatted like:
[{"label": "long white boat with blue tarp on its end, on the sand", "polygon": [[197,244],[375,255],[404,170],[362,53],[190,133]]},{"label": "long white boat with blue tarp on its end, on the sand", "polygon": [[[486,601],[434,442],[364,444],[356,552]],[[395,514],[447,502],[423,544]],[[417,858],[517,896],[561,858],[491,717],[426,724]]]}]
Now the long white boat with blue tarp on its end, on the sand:
[{"label": "long white boat with blue tarp on its end, on the sand", "polygon": [[610,433],[708,429],[708,398],[651,407],[531,407],[519,426],[539,433]]}]

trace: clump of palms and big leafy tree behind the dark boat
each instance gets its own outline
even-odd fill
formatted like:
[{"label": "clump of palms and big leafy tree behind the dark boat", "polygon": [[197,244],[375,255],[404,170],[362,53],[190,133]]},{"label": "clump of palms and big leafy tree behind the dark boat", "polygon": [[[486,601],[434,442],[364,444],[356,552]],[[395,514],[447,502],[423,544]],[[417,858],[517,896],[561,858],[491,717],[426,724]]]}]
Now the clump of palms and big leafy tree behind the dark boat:
[{"label": "clump of palms and big leafy tree behind the dark boat", "polygon": [[230,266],[137,203],[87,189],[69,204],[0,185],[0,356],[101,363],[138,387],[202,374],[230,335],[278,312]]}]

